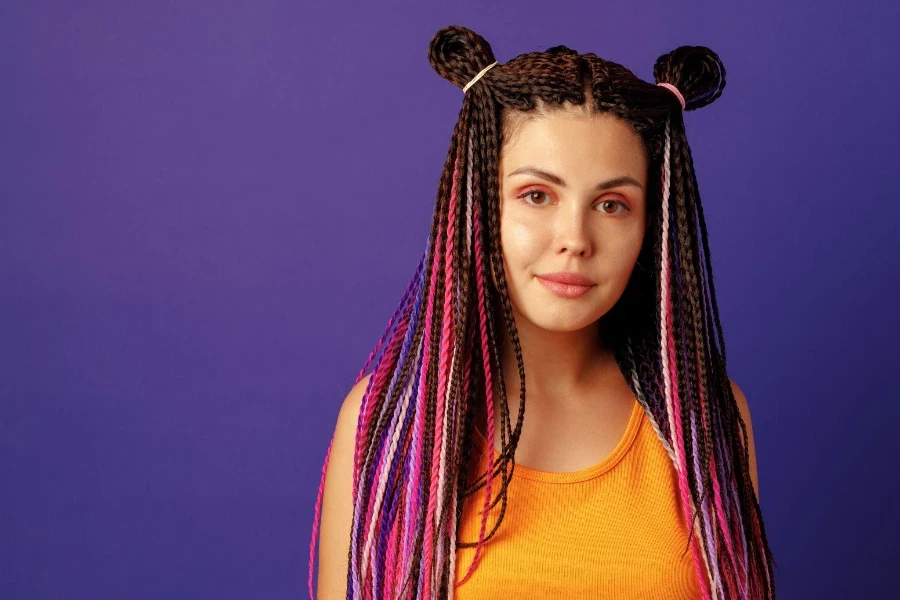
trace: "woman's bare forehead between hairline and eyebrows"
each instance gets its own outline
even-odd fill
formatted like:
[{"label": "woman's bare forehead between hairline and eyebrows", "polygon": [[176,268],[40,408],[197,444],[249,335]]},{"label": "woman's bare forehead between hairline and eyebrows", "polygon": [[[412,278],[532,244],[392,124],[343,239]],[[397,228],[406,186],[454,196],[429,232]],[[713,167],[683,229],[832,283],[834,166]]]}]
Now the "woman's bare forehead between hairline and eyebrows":
[{"label": "woman's bare forehead between hairline and eyebrows", "polygon": [[[555,111],[514,120],[500,152],[500,177],[529,165],[569,178],[590,181],[605,175],[631,175],[646,182],[647,158],[641,136],[611,113],[584,115]],[[645,186],[646,187],[646,186]]]}]

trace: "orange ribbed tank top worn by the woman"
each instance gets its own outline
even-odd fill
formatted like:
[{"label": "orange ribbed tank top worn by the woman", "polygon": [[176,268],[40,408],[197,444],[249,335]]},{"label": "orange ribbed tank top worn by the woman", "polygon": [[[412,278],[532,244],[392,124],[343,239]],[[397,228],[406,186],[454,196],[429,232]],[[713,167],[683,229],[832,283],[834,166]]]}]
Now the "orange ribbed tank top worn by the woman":
[{"label": "orange ribbed tank top worn by the woman", "polygon": [[[479,474],[488,467],[482,446]],[[502,481],[494,477],[496,499]],[[457,543],[478,541],[485,489],[466,499]],[[614,598],[694,600],[701,596],[682,520],[675,468],[635,400],[625,434],[599,463],[568,473],[515,466],[503,522],[482,547],[456,600]],[[502,502],[491,510],[491,531]],[[456,581],[475,548],[456,554]]]}]

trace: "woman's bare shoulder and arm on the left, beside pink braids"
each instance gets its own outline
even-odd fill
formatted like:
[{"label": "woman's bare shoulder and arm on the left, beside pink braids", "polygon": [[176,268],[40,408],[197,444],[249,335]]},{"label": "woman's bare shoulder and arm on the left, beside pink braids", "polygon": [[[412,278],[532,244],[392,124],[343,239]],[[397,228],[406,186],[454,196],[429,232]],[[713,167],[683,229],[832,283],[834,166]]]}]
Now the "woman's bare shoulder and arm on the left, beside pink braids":
[{"label": "woman's bare shoulder and arm on the left, beside pink braids", "polygon": [[347,597],[356,426],[371,376],[369,373],[353,386],[338,412],[322,493],[317,600]]}]

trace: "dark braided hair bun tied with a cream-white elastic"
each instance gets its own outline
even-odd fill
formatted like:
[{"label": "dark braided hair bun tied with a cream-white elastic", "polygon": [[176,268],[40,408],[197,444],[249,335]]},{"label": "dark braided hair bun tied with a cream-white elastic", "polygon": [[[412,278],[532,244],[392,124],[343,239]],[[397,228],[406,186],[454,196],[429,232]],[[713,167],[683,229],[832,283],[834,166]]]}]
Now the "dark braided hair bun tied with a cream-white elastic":
[{"label": "dark braided hair bun tied with a cream-white elastic", "polygon": [[428,62],[438,75],[459,88],[495,60],[483,37],[458,25],[442,28],[428,45]]}]

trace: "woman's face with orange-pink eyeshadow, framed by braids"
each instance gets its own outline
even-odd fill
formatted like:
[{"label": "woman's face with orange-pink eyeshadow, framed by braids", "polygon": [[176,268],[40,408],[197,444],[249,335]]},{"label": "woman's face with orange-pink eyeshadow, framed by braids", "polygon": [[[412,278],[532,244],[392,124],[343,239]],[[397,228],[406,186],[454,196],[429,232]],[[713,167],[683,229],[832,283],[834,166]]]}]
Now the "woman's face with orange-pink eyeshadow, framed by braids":
[{"label": "woman's face with orange-pink eyeshadow, framed by braids", "polygon": [[[643,141],[609,113],[557,111],[517,125],[500,156],[500,240],[517,319],[576,331],[615,305],[644,240],[646,189]],[[592,285],[555,292],[540,278],[560,272]]]}]

